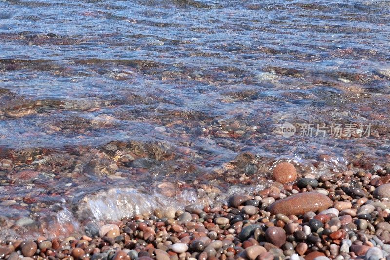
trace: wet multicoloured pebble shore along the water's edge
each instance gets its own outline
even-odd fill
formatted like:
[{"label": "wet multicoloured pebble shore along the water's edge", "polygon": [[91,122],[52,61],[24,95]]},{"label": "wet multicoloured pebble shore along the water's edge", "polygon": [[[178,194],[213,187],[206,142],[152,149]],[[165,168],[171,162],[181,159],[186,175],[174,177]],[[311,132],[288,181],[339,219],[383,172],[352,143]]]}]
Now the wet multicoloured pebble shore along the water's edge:
[{"label": "wet multicoloured pebble shore along the water's edge", "polygon": [[156,209],[64,240],[2,241],[7,260],[390,259],[390,168],[297,178],[273,169],[273,185],[203,210]]}]

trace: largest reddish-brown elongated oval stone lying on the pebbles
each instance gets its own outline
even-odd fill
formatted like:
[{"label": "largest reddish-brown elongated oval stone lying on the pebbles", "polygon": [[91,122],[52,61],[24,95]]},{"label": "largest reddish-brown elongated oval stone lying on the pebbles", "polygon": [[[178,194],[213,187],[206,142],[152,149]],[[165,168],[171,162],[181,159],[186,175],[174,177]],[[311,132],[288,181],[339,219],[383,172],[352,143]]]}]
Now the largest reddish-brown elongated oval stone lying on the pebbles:
[{"label": "largest reddish-brown elongated oval stone lying on the pebbles", "polygon": [[282,200],[277,200],[268,206],[271,214],[299,215],[308,211],[322,211],[332,205],[328,196],[318,192],[298,193]]}]

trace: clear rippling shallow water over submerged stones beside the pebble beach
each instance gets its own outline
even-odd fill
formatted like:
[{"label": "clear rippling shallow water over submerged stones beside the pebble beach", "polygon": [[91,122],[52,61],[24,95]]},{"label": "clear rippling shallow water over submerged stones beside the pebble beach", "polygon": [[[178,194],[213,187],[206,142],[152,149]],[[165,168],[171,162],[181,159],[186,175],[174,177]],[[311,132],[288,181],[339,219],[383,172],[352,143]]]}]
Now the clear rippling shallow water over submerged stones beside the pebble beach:
[{"label": "clear rippling shallow water over submerged stones beside the pebble beach", "polygon": [[[260,189],[280,160],[316,176],[389,163],[389,13],[389,1],[0,1],[2,215],[68,234],[110,219],[106,197],[140,213],[128,204]],[[300,136],[307,124],[325,137]],[[332,137],[331,124],[354,131]],[[82,202],[95,192],[106,197]]]}]

